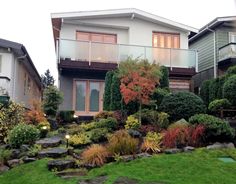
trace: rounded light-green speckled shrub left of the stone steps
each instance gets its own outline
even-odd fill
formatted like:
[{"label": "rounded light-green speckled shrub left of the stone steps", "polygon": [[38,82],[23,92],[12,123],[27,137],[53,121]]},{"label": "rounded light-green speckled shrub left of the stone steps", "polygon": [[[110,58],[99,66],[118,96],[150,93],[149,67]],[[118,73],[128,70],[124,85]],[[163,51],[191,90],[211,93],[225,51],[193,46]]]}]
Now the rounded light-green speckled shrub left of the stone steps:
[{"label": "rounded light-green speckled shrub left of the stone steps", "polygon": [[16,125],[9,133],[9,143],[14,148],[22,144],[33,144],[40,135],[40,131],[33,125]]}]

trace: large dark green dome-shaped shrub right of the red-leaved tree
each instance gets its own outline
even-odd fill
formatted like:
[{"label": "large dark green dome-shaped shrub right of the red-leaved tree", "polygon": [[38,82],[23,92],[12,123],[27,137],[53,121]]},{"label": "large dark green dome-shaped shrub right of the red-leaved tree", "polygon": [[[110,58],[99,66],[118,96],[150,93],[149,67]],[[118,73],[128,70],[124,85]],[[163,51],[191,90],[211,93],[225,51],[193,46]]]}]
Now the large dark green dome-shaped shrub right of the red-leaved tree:
[{"label": "large dark green dome-shaped shrub right of the red-leaved tree", "polygon": [[194,114],[204,113],[206,106],[200,97],[191,92],[178,92],[166,96],[160,110],[170,115],[170,120],[188,119]]}]

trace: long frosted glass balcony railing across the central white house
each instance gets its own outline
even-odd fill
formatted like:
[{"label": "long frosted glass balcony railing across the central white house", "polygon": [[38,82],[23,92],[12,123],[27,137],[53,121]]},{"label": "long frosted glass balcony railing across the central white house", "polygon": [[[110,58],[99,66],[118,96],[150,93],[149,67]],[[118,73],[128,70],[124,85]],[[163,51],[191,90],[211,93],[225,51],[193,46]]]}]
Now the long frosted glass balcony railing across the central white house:
[{"label": "long frosted glass balcony railing across the central white house", "polygon": [[197,52],[195,50],[157,48],[138,45],[108,44],[97,42],[59,39],[57,59],[119,64],[128,57],[147,59],[151,63],[175,68],[195,68],[197,71]]}]

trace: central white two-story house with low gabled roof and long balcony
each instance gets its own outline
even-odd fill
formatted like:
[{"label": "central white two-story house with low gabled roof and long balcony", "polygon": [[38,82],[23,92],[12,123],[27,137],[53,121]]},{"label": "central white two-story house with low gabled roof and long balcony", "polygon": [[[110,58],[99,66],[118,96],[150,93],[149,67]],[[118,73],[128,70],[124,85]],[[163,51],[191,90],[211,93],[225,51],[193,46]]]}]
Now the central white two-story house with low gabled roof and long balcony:
[{"label": "central white two-story house with low gabled roof and long balcony", "polygon": [[148,59],[170,71],[172,90],[191,90],[196,29],[138,9],[53,13],[52,26],[64,93],[62,110],[94,115],[103,109],[104,79],[128,57]]}]

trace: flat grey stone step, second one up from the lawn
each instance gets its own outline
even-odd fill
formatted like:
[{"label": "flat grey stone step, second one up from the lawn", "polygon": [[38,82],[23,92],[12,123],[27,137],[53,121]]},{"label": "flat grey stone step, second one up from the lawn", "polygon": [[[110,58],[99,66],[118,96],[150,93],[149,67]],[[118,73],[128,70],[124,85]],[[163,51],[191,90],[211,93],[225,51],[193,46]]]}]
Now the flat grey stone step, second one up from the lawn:
[{"label": "flat grey stone step, second one up from the lawn", "polygon": [[48,150],[42,150],[38,153],[39,158],[52,157],[59,158],[67,155],[67,149],[64,148],[51,148]]}]

